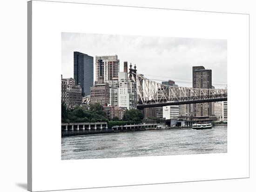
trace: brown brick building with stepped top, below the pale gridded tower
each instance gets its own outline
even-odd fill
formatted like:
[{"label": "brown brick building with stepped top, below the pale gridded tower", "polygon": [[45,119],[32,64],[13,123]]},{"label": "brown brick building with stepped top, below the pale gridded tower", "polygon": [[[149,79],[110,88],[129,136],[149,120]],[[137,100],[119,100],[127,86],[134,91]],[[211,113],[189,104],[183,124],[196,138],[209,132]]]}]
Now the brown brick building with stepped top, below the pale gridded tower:
[{"label": "brown brick building with stepped top, below the pale gridded tower", "polygon": [[110,89],[108,83],[104,83],[103,77],[90,87],[90,103],[101,103],[102,106],[110,104]]}]

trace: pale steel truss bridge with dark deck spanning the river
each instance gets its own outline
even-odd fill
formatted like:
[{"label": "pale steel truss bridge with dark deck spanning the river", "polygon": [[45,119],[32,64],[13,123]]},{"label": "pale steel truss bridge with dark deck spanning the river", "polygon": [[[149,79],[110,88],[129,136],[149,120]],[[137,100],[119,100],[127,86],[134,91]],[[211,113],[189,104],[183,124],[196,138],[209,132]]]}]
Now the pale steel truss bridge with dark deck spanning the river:
[{"label": "pale steel truss bridge with dark deck spanning the river", "polygon": [[129,69],[129,80],[136,82],[137,109],[189,103],[227,101],[227,89],[174,87],[149,80],[136,69]]}]

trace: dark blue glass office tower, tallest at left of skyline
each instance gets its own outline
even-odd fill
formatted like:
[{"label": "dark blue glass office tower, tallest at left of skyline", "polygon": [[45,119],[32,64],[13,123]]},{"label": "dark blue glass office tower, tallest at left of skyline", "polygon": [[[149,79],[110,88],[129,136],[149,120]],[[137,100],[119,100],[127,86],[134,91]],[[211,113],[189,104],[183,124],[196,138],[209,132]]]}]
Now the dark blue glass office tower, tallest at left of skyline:
[{"label": "dark blue glass office tower, tallest at left of skyline", "polygon": [[74,51],[75,85],[82,88],[82,96],[90,95],[90,87],[94,85],[94,58]]}]

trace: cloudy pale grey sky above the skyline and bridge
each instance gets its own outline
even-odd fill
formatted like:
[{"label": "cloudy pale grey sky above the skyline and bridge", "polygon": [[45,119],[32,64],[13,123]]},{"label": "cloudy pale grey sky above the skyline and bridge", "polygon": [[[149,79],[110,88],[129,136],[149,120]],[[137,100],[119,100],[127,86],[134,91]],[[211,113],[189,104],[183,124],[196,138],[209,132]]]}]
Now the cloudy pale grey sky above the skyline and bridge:
[{"label": "cloudy pale grey sky above the skyline and bridge", "polygon": [[172,79],[179,86],[185,87],[192,87],[192,66],[202,65],[212,70],[212,82],[216,88],[225,88],[227,84],[227,40],[223,39],[63,32],[63,78],[74,77],[74,51],[94,58],[96,55],[117,55],[120,71],[123,71],[123,62],[128,61],[128,65],[136,64],[138,73],[149,79],[157,82]]}]

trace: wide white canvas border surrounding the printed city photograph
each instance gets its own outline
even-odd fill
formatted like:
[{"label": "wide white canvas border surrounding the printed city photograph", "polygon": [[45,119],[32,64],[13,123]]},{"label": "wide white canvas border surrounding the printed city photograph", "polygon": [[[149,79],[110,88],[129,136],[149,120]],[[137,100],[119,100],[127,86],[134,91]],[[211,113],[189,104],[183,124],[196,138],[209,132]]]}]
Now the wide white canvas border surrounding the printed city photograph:
[{"label": "wide white canvas border surrounding the printed city photograph", "polygon": [[[229,70],[228,73],[228,83],[234,82],[237,80],[236,74],[239,72],[239,77],[245,77],[245,81],[243,82],[236,82],[234,84],[229,83],[229,96],[232,95],[232,98],[229,99],[229,128],[234,126],[234,130],[230,130],[228,128],[228,153],[227,154],[202,154],[202,155],[177,155],[177,156],[159,156],[159,157],[136,157],[136,158],[118,158],[118,159],[102,159],[102,160],[70,160],[70,161],[61,161],[61,134],[58,126],[60,124],[60,104],[57,102],[60,96],[60,66],[61,66],[61,32],[87,32],[87,33],[96,33],[95,28],[88,28],[86,26],[77,26],[75,27],[75,20],[78,15],[86,15],[88,12],[95,13],[95,11],[100,11],[100,13],[108,13],[109,9],[113,10],[114,6],[95,6],[91,5],[90,10],[86,9],[85,7],[89,5],[81,5],[81,4],[73,4],[67,5],[66,3],[53,3],[53,2],[42,2],[42,1],[33,1],[33,13],[32,13],[32,177],[33,177],[33,191],[41,191],[41,190],[54,190],[54,189],[74,189],[74,188],[87,188],[87,187],[101,187],[101,186],[125,186],[125,185],[139,185],[139,184],[150,184],[150,183],[169,183],[169,182],[180,182],[180,181],[192,181],[192,180],[209,180],[209,179],[229,179],[229,178],[237,178],[237,177],[249,177],[249,100],[244,101],[244,106],[239,108],[240,111],[245,111],[245,113],[241,114],[242,117],[247,119],[247,124],[244,132],[239,132],[236,128],[236,111],[234,101],[236,101],[236,97],[233,99],[234,90],[237,87],[243,86],[243,90],[245,93],[245,98],[249,98],[249,16],[248,15],[240,15],[240,14],[227,14],[224,13],[200,13],[197,12],[186,12],[186,11],[174,11],[174,10],[161,10],[161,12],[156,11],[155,9],[150,9],[150,11],[143,12],[148,13],[147,18],[150,18],[151,12],[158,13],[155,15],[156,18],[148,19],[143,26],[147,26],[152,21],[157,22],[155,23],[156,26],[162,24],[162,21],[165,20],[163,15],[172,18],[171,16],[175,15],[176,21],[172,24],[171,29],[173,29],[168,34],[162,31],[143,31],[141,30],[140,26],[138,25],[139,19],[137,19],[134,15],[123,15],[122,17],[119,15],[118,18],[115,15],[111,14],[112,18],[115,19],[124,19],[130,20],[134,19],[134,23],[132,24],[133,27],[140,30],[134,31],[121,31],[124,28],[124,24],[128,24],[127,22],[123,22],[120,24],[120,28],[118,30],[110,29],[106,32],[101,33],[113,33],[113,34],[129,34],[129,35],[148,35],[148,36],[170,36],[170,37],[190,37],[190,38],[227,38],[228,39],[228,69],[232,68],[232,71]],[[65,4],[65,5],[64,5]],[[94,8],[92,8],[94,7]],[[118,10],[117,10],[117,9]],[[122,14],[126,13],[124,9],[131,9],[132,7],[114,7],[115,11],[121,12]],[[122,10],[120,10],[122,9]],[[142,8],[133,8],[133,14],[139,13],[138,9]],[[56,10],[58,10],[58,14],[56,15]],[[67,10],[72,12],[72,14],[67,14]],[[82,12],[82,10],[87,10],[87,13]],[[81,12],[79,12],[81,11]],[[149,13],[150,12],[150,13]],[[182,12],[182,13],[178,13]],[[47,13],[44,14],[44,13]],[[189,15],[189,21],[188,15]],[[202,14],[204,14],[202,18]],[[92,14],[93,15],[93,14]],[[179,17],[180,16],[180,17]],[[97,16],[95,16],[97,18]],[[100,17],[100,16],[98,16]],[[74,20],[72,20],[73,18]],[[95,20],[97,19],[109,19],[106,18],[94,18],[91,17],[92,21],[88,21],[90,25],[93,25]],[[164,18],[164,19],[163,19]],[[192,18],[194,18],[194,22],[191,22]],[[207,20],[207,19],[212,20]],[[224,19],[223,19],[224,18]],[[56,22],[56,19],[58,22]],[[161,20],[162,19],[162,20]],[[225,20],[226,19],[226,20]],[[202,26],[200,28],[199,21],[209,21],[206,23],[206,29],[202,30]],[[211,21],[217,20],[219,21],[218,24],[213,23]],[[230,26],[227,26],[227,20],[229,20]],[[93,22],[94,21],[94,22]],[[123,20],[122,20],[123,21]],[[232,21],[236,21],[233,23]],[[187,23],[188,25],[180,26],[179,23]],[[88,24],[87,23],[87,24]],[[225,25],[226,24],[226,25]],[[193,26],[195,29],[186,30],[188,26]],[[103,28],[104,28],[103,24]],[[164,26],[164,25],[163,25]],[[179,26],[175,28],[174,26]],[[239,26],[239,27],[238,27]],[[108,29],[105,26],[105,29]],[[215,28],[216,27],[216,28]],[[218,27],[218,28],[217,28]],[[175,28],[175,29],[174,29]],[[227,29],[223,32],[220,29]],[[71,29],[71,30],[70,30]],[[166,29],[166,28],[165,28]],[[214,29],[214,30],[213,30]],[[236,30],[234,30],[236,29]],[[170,29],[169,29],[170,30]],[[202,31],[200,31],[202,30]],[[210,32],[212,30],[212,32]],[[207,31],[207,32],[205,32]],[[205,33],[203,33],[205,32]],[[232,32],[232,34],[230,34]],[[59,38],[58,38],[59,36]],[[239,37],[239,38],[238,38]],[[234,40],[236,38],[236,41]],[[243,50],[242,50],[243,48]],[[234,52],[233,52],[234,51]],[[240,55],[235,54],[238,51]],[[243,69],[237,68],[238,64],[243,64]],[[231,66],[232,64],[232,66]],[[237,69],[236,69],[237,68]],[[51,69],[51,70],[49,70]],[[235,70],[235,72],[233,72]],[[231,72],[231,73],[230,73]],[[47,74],[47,75],[45,75]],[[240,75],[243,74],[243,75]],[[46,88],[47,86],[48,91],[51,93],[51,97],[45,95],[42,92],[42,88]],[[41,98],[44,98],[42,100]],[[233,102],[232,102],[233,101]],[[53,109],[51,111],[47,111],[47,106],[51,106]],[[59,110],[59,113],[58,113]],[[49,126],[44,126],[40,124],[41,116],[48,114],[49,120],[47,124],[51,124]],[[233,114],[233,115],[232,115]],[[241,117],[240,116],[240,117]],[[231,117],[231,120],[230,120]],[[233,122],[234,121],[234,122]],[[233,123],[232,123],[233,122]],[[57,127],[57,128],[55,128]],[[60,126],[59,126],[60,127]],[[56,130],[55,130],[55,129]],[[43,130],[43,131],[42,131]],[[229,131],[230,130],[230,131]],[[235,135],[235,136],[234,136]],[[56,139],[56,136],[58,139]],[[241,138],[240,144],[236,143],[236,138]],[[45,143],[44,141],[47,141]],[[235,159],[230,161],[230,154]],[[233,156],[233,155],[234,156]],[[191,165],[193,167],[188,166],[187,160],[191,160]],[[229,159],[229,160],[228,160]],[[158,167],[151,167],[154,165],[154,161],[156,162],[168,162],[171,160],[173,164],[170,165],[171,172],[163,173],[162,170],[168,171],[168,168],[162,169],[162,166]],[[200,167],[206,167],[204,170],[196,170],[197,167],[196,162],[198,160],[204,160],[201,162]],[[215,163],[219,163],[220,167],[215,167],[211,164],[212,167],[209,166],[209,161],[207,160],[214,160]],[[125,165],[138,165],[138,162],[144,162],[140,166],[133,166],[131,167],[122,167],[122,179],[120,175],[115,174],[113,170],[115,167],[120,169],[118,161],[121,161],[122,164]],[[150,163],[151,161],[151,163]],[[145,163],[147,162],[147,163]],[[178,167],[175,162],[178,162],[178,165],[182,165],[182,167]],[[99,166],[99,169],[93,169],[91,167],[87,167],[86,173],[90,173],[90,177],[88,175],[83,175],[82,173],[85,172],[81,167],[85,164],[97,164],[101,165],[107,164],[111,165],[109,167]],[[120,163],[120,162],[119,162]],[[127,163],[127,164],[126,164]],[[169,165],[169,164],[168,164]],[[175,167],[174,167],[175,165]],[[239,167],[237,167],[239,165]],[[232,166],[236,166],[236,170],[229,169]],[[65,171],[63,172],[63,168],[65,167]],[[73,167],[73,170],[68,170],[69,167]],[[78,167],[78,169],[77,169]],[[150,167],[150,169],[149,169]],[[182,169],[181,169],[182,168]],[[210,176],[207,175],[204,178],[202,177],[202,173],[211,170],[214,172],[217,170],[222,171],[219,173],[211,174]],[[160,169],[160,170],[159,170]],[[210,170],[209,170],[210,169]],[[67,172],[67,170],[69,172]],[[77,171],[79,170],[79,171]],[[141,177],[140,173],[133,173],[134,170],[141,170],[145,177]],[[181,173],[181,171],[184,171]],[[193,173],[193,175],[185,174],[184,173]],[[96,173],[98,172],[98,174]],[[108,174],[109,173],[109,174]],[[111,177],[111,173],[112,176]],[[114,174],[113,174],[114,173]],[[120,172],[121,173],[121,172]],[[125,173],[125,174],[123,174]],[[152,175],[153,173],[158,173],[157,178],[148,178],[148,176]],[[161,175],[159,174],[161,173]],[[169,173],[174,173],[173,175],[169,175]],[[196,173],[196,174],[195,174]],[[215,173],[215,172],[214,172]],[[67,177],[68,175],[68,177]],[[99,175],[101,176],[99,178]],[[221,176],[222,175],[222,176]],[[82,177],[81,177],[82,176]],[[107,177],[106,177],[107,176]],[[192,176],[192,177],[191,177]],[[54,178],[58,177],[58,180],[54,180]],[[109,177],[111,180],[109,180]],[[95,179],[97,178],[97,179]],[[103,178],[103,179],[102,179]],[[114,180],[112,179],[114,178]],[[127,178],[125,181],[123,178]],[[141,179],[143,178],[143,179]],[[181,179],[182,178],[182,179]],[[68,182],[65,182],[68,179]],[[54,180],[54,182],[53,182]],[[101,183],[99,183],[99,180]],[[84,183],[87,181],[88,183]],[[96,182],[95,182],[96,181]]]}]

